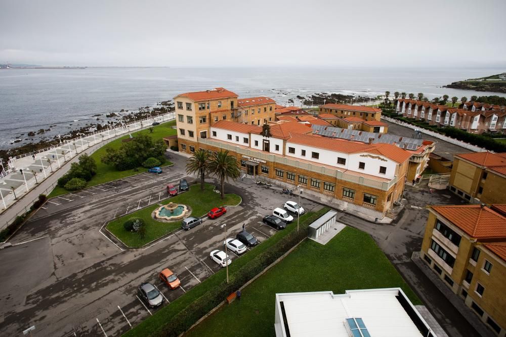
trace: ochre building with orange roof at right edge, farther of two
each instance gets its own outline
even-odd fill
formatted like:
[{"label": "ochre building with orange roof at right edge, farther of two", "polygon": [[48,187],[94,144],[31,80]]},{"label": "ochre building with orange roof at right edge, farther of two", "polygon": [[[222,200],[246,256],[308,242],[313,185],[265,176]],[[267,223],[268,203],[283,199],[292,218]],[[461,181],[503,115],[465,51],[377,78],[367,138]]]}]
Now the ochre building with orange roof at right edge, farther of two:
[{"label": "ochre building with orange roof at right edge, farther of two", "polygon": [[506,204],[506,153],[453,155],[449,189],[468,202]]}]

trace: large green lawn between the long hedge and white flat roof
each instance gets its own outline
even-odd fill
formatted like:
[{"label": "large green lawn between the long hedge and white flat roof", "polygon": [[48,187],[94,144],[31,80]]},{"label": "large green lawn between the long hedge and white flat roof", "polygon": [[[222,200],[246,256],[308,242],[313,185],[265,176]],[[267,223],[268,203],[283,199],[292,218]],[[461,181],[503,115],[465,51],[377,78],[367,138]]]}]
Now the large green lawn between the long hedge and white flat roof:
[{"label": "large green lawn between the long hedge and white flat roof", "polygon": [[[233,265],[233,264],[232,264]],[[274,336],[276,293],[401,287],[414,305],[420,300],[372,238],[346,227],[327,245],[306,239],[296,250],[242,291],[240,301],[186,333],[188,336]]]}]

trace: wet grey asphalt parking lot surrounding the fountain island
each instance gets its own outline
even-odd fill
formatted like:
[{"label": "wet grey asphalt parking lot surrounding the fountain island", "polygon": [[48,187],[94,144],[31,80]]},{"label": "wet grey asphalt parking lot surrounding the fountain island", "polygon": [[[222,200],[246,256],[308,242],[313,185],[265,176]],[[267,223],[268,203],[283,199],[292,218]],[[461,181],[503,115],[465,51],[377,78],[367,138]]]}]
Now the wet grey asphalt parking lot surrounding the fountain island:
[{"label": "wet grey asphalt parking lot surrounding the fountain island", "polygon": [[[244,224],[260,245],[276,232],[262,218],[289,197],[236,183],[226,189],[240,195],[242,204],[229,207],[222,217],[205,219],[189,231],[176,230],[147,249],[116,247],[99,229],[116,216],[166,198],[166,184],[177,185],[186,177],[185,158],[174,157],[175,165],[161,174],[141,173],[53,198],[20,229],[11,240],[19,245],[0,251],[0,268],[16,266],[15,272],[0,276],[0,334],[19,334],[35,325],[37,336],[120,335],[160,309],[147,308],[136,297],[142,282],[155,284],[166,306],[222,268],[209,253],[223,250],[223,223],[227,237],[235,237]],[[317,207],[305,199],[301,204],[306,211]],[[232,264],[241,258],[229,255]],[[164,268],[179,276],[182,287],[170,290],[159,280]]]}]

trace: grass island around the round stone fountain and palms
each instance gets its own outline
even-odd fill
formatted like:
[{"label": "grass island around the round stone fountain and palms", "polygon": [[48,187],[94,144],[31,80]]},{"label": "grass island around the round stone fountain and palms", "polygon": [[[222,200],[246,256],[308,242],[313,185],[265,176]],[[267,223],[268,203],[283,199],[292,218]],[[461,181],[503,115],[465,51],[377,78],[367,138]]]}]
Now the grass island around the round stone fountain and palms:
[{"label": "grass island around the round stone fountain and palms", "polygon": [[[211,208],[217,206],[235,206],[241,202],[241,197],[235,194],[225,195],[225,199],[221,200],[220,195],[213,191],[214,186],[205,185],[203,191],[200,190],[200,184],[192,185],[188,192],[179,196],[165,199],[160,204],[168,204],[169,202],[184,204],[192,209],[191,216],[201,217]],[[157,238],[172,232],[174,229],[181,227],[181,220],[173,222],[157,221],[151,217],[151,213],[160,207],[158,204],[146,207],[142,210],[130,213],[109,222],[106,228],[113,233],[123,244],[128,247],[142,247]],[[124,230],[123,223],[132,217],[139,217],[146,224],[146,236],[141,239],[140,235],[135,232]]]}]

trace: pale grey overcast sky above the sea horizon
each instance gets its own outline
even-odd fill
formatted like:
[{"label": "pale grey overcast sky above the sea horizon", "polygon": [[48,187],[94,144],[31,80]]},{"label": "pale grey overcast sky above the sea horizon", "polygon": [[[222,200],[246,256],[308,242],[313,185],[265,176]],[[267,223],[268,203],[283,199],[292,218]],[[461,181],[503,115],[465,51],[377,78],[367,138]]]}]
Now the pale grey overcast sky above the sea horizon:
[{"label": "pale grey overcast sky above the sea horizon", "polygon": [[0,0],[0,63],[506,66],[506,0]]}]

